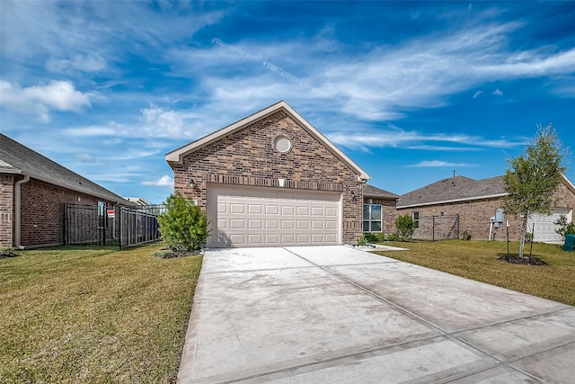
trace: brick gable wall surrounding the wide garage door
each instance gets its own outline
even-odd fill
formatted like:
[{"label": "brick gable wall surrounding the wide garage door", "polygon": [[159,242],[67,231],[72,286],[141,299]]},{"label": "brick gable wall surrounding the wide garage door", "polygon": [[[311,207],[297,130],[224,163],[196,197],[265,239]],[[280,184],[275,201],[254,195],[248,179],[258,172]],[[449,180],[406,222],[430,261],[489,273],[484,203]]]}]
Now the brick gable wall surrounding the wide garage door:
[{"label": "brick gable wall surrounding the wide garage door", "polygon": [[[273,147],[279,135],[291,141],[287,153]],[[197,184],[193,190],[190,178]],[[174,166],[175,192],[197,200],[204,210],[207,183],[278,187],[279,178],[286,180],[285,188],[343,192],[343,241],[361,236],[362,184],[357,175],[285,112],[201,147]]]}]

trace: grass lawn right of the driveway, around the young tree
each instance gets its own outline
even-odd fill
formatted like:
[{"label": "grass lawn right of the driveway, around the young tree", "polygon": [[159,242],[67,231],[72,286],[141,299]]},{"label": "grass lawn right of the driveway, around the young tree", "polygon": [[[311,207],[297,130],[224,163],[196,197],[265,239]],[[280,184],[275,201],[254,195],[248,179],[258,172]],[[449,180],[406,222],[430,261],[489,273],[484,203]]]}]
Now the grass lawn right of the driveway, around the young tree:
[{"label": "grass lawn right of the driveway, around the young tree", "polygon": [[[532,255],[548,265],[533,266],[498,260],[507,253],[507,243],[500,241],[385,242],[385,245],[410,250],[376,254],[575,306],[575,253],[565,252],[561,246],[534,244]],[[517,247],[517,243],[510,243],[509,255],[517,255]]]}]

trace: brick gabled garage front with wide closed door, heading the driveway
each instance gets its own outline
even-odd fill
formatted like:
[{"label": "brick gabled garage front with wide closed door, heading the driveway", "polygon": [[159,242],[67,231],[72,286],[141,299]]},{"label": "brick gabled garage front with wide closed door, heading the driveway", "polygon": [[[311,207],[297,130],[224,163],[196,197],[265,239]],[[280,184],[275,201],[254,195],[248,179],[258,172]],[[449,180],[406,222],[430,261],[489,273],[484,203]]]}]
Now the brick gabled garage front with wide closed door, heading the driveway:
[{"label": "brick gabled garage front with wide closed door, heading the driveway", "polygon": [[207,245],[329,245],[362,235],[369,176],[286,102],[166,154],[206,210]]}]

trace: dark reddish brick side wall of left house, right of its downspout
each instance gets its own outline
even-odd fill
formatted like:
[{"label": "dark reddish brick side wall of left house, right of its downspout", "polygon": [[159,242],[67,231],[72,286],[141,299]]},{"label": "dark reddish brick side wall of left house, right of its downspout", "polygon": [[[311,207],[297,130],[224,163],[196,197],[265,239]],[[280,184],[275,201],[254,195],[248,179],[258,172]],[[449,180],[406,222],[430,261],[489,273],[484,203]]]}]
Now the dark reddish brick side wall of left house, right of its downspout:
[{"label": "dark reddish brick side wall of left house, right of its downspout", "polygon": [[[22,246],[64,243],[63,204],[97,206],[98,199],[31,179],[22,184]],[[80,198],[80,201],[78,201]]]}]

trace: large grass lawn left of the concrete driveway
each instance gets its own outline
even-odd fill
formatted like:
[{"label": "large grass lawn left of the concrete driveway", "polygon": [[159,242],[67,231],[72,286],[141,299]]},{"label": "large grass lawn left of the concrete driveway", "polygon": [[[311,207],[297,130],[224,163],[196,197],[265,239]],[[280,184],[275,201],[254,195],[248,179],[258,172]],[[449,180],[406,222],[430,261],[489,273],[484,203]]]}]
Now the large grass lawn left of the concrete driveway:
[{"label": "large grass lawn left of the concrete driveway", "polygon": [[168,383],[201,257],[58,247],[0,259],[0,382]]}]

